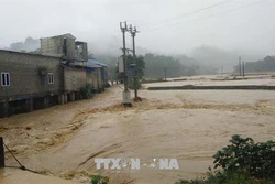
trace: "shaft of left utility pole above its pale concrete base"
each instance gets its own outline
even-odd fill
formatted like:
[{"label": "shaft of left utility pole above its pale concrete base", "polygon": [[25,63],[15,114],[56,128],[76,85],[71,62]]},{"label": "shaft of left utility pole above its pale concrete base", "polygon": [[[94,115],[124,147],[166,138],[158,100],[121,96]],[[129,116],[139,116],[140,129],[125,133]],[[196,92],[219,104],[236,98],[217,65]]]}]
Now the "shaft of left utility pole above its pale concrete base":
[{"label": "shaft of left utility pole above its pale concrete base", "polygon": [[128,76],[127,76],[127,42],[125,42],[125,32],[128,31],[127,22],[124,22],[124,26],[122,22],[120,22],[120,29],[122,32],[123,39],[123,78],[124,78],[124,91],[128,91]]}]

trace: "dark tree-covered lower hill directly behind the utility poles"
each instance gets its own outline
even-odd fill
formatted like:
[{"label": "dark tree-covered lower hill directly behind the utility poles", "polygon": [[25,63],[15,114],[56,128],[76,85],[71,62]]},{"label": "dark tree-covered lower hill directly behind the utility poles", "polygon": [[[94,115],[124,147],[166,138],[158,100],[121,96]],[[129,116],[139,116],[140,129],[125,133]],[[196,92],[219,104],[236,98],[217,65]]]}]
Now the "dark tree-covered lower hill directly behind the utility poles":
[{"label": "dark tree-covered lower hill directly behind the utility poles", "polygon": [[[96,55],[99,62],[109,66],[112,80],[121,80],[122,76],[118,73],[118,58],[107,55]],[[128,55],[128,67],[134,64],[132,55]],[[217,68],[199,64],[196,59],[180,55],[177,57],[145,54],[138,56],[139,78],[165,78],[194,75],[217,74]],[[130,72],[131,73],[131,72]],[[131,74],[130,74],[131,75]]]}]

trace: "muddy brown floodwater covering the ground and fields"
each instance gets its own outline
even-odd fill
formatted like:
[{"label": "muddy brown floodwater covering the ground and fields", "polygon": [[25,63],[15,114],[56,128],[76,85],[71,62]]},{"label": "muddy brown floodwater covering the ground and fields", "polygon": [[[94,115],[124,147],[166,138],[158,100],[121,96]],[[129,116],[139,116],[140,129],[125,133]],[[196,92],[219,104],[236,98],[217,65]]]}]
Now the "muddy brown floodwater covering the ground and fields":
[{"label": "muddy brown floodwater covering the ground and fields", "polygon": [[[162,85],[175,83],[187,82]],[[154,85],[160,84],[146,87]],[[95,99],[1,119],[0,134],[32,170],[80,183],[89,183],[87,176],[99,173],[118,184],[173,184],[179,178],[202,176],[212,165],[211,156],[228,144],[232,134],[275,140],[274,91],[140,90],[143,101],[132,108],[120,105],[121,93],[121,88],[112,87]],[[134,173],[118,173],[96,170],[97,158],[177,159],[179,170],[142,166]],[[15,162],[7,153],[8,164]],[[8,178],[13,172],[19,173],[1,171],[1,183],[12,184]]]}]

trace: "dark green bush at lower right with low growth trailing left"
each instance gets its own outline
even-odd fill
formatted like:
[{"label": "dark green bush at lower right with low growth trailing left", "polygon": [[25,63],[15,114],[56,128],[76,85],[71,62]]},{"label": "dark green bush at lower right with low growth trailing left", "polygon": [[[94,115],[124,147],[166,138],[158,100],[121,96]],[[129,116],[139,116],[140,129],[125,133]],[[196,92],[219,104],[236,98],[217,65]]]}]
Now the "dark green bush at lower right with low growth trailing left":
[{"label": "dark green bush at lower right with low growth trailing left", "polygon": [[218,151],[215,171],[209,167],[207,176],[180,180],[176,184],[275,184],[275,142],[255,143],[251,138],[232,136],[231,144]]}]

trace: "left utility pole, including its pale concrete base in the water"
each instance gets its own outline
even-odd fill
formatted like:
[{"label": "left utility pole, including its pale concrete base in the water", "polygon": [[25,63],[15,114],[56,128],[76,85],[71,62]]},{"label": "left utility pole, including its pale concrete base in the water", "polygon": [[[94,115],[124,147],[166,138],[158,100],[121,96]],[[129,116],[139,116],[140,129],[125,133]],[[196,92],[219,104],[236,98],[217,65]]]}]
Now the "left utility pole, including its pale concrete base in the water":
[{"label": "left utility pole, including its pale concrete base in the water", "polygon": [[[124,25],[123,25],[124,24]],[[131,107],[131,94],[128,89],[128,75],[127,75],[127,43],[125,43],[125,32],[128,32],[128,25],[127,22],[122,23],[120,22],[120,29],[122,32],[122,39],[123,39],[123,78],[124,78],[124,91],[123,91],[123,105],[125,107]]]}]

